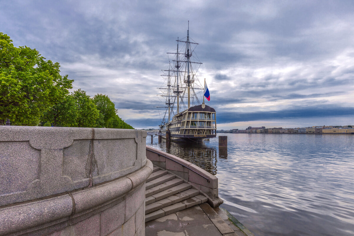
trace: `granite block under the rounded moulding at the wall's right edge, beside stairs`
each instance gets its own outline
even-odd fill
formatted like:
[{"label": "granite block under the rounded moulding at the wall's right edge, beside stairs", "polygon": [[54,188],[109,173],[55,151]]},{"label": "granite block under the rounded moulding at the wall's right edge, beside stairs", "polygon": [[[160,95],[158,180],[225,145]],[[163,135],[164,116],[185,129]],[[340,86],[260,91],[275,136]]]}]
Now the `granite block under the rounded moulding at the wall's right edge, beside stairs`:
[{"label": "granite block under the rounded moulding at the wall's right edge, beside stairs", "polygon": [[127,221],[138,211],[141,203],[145,202],[145,183],[130,192],[125,201],[125,221]]}]

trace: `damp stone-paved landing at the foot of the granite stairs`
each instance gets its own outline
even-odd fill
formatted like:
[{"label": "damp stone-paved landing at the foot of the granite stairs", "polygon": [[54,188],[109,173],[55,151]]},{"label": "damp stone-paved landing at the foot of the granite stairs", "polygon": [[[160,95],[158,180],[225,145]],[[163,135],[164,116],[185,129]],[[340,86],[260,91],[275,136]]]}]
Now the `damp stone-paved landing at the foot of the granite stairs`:
[{"label": "damp stone-paved landing at the foot of the granite stairs", "polygon": [[[218,213],[216,213],[216,211]],[[222,208],[207,203],[145,223],[146,236],[254,236]],[[234,223],[230,221],[230,218]],[[238,225],[239,224],[239,225]],[[242,230],[240,230],[238,225]]]}]

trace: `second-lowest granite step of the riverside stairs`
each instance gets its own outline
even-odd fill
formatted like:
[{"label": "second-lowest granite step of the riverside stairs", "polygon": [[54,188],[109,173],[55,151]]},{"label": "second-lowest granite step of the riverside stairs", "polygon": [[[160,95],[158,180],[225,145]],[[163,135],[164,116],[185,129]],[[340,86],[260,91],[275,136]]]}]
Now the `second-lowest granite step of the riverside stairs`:
[{"label": "second-lowest granite step of the riverside stairs", "polygon": [[158,209],[170,206],[170,205],[175,204],[177,202],[184,201],[188,198],[194,197],[199,194],[200,194],[199,190],[187,189],[185,191],[179,192],[179,193],[169,196],[167,198],[161,199],[157,202],[152,202],[147,205],[145,204],[146,205],[145,214],[151,213],[153,211],[157,211]]}]

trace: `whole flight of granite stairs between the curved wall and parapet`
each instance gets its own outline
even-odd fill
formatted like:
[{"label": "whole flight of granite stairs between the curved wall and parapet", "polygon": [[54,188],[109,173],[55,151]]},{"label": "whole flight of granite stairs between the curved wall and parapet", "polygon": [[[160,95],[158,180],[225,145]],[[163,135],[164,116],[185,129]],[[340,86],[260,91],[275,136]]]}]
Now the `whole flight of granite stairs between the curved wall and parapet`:
[{"label": "whole flight of granite stairs between the curved wall and parapet", "polygon": [[145,222],[207,201],[192,185],[159,167],[154,167],[145,186]]}]

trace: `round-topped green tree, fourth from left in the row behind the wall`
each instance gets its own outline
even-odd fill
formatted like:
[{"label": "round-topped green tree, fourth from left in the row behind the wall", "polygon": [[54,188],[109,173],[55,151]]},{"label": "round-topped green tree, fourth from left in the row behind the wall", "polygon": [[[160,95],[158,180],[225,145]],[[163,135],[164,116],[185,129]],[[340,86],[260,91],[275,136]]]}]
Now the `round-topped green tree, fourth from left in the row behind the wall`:
[{"label": "round-topped green tree, fourth from left in the row behind the wall", "polygon": [[114,103],[109,99],[107,95],[103,94],[96,94],[92,100],[95,103],[97,110],[101,114],[99,122],[97,122],[98,126],[107,127],[107,121],[114,117],[117,112]]}]

